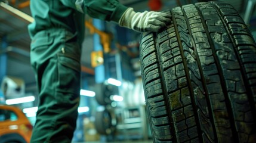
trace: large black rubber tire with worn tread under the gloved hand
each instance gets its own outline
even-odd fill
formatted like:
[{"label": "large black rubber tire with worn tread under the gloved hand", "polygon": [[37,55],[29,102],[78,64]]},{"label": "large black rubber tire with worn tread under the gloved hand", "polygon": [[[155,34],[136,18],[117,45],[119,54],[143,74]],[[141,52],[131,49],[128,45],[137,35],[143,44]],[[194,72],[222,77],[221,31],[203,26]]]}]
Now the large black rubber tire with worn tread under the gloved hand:
[{"label": "large black rubber tire with worn tread under the gloved hand", "polygon": [[143,33],[141,74],[154,142],[256,142],[256,46],[237,11],[199,2]]}]

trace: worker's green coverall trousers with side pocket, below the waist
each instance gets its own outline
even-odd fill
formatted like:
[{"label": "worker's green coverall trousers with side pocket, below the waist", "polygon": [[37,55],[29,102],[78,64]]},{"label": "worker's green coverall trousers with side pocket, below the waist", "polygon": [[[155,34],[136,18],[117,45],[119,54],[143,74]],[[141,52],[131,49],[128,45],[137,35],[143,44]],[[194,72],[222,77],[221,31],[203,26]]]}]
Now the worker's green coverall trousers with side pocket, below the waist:
[{"label": "worker's green coverall trousers with side pocket, below the waist", "polygon": [[30,58],[36,73],[39,105],[31,142],[71,142],[80,92],[81,45],[65,29],[38,32]]}]

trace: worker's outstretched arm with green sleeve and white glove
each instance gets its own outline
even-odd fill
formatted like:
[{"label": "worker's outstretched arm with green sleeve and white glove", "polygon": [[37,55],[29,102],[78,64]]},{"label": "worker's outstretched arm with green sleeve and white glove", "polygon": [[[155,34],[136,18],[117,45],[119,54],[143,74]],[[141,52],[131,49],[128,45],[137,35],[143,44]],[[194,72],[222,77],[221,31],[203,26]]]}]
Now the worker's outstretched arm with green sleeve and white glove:
[{"label": "worker's outstretched arm with green sleeve and white glove", "polygon": [[115,21],[119,26],[138,32],[158,32],[166,23],[171,22],[169,14],[144,11],[135,13],[133,8],[127,8],[118,0],[61,0],[67,7],[75,8],[81,13],[87,13],[93,18]]}]

